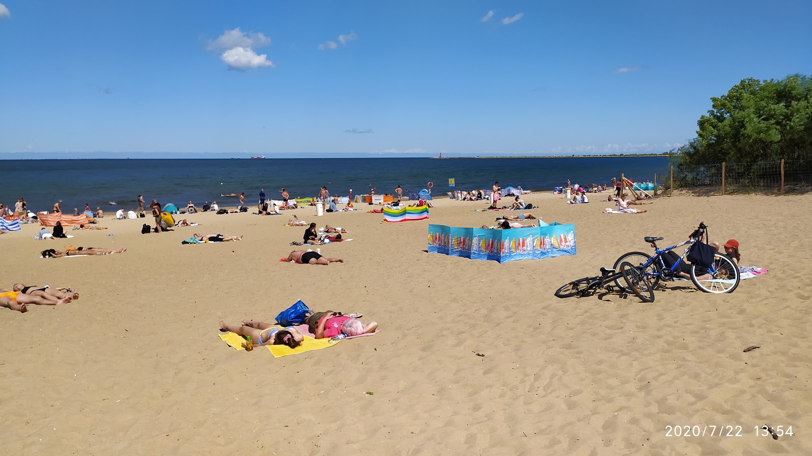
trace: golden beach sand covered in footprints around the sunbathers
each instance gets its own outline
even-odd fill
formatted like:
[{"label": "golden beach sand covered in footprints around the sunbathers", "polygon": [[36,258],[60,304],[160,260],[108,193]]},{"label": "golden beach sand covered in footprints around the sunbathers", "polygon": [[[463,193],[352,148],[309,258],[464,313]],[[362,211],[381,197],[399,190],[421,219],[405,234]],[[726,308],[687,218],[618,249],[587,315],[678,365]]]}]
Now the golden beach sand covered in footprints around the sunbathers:
[{"label": "golden beach sand covered in footprints around the sunbathers", "polygon": [[[578,254],[503,265],[425,252],[430,222],[493,224],[503,213],[470,210],[484,202],[434,200],[430,221],[395,224],[361,204],[291,211],[355,239],[322,246],[347,260],[326,267],[279,262],[303,248],[288,245],[304,228],[283,226],[287,211],[191,214],[181,217],[203,226],[166,234],[140,234],[150,218],[106,217],[109,230],[50,241],[23,226],[0,236],[0,286],[71,286],[81,298],[0,310],[0,450],[812,453],[812,196],[674,196],[628,215],[600,213],[606,195],[579,205],[525,196],[545,222],[575,223]],[[553,295],[624,252],[650,252],[643,236],[672,245],[701,221],[712,241],[739,240],[743,265],[770,272],[731,295],[691,282],[668,282],[654,303]],[[180,244],[195,232],[245,237]],[[129,250],[39,258],[67,243]],[[218,338],[219,320],[272,321],[297,299],[361,312],[380,332],[279,359]],[[743,352],[752,345],[761,348]],[[756,437],[762,424],[795,436]],[[705,437],[667,437],[668,426],[694,425]],[[741,437],[719,437],[723,426]]]}]

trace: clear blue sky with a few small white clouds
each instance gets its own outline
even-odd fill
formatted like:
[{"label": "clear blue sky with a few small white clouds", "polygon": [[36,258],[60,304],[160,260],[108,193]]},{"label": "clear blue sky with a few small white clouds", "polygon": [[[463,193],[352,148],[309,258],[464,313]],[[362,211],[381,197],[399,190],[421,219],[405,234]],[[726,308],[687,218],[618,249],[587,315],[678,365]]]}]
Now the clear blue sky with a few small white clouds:
[{"label": "clear blue sky with a few small white clouds", "polygon": [[782,0],[0,0],[0,158],[660,153],[741,79],[812,74],[810,17]]}]

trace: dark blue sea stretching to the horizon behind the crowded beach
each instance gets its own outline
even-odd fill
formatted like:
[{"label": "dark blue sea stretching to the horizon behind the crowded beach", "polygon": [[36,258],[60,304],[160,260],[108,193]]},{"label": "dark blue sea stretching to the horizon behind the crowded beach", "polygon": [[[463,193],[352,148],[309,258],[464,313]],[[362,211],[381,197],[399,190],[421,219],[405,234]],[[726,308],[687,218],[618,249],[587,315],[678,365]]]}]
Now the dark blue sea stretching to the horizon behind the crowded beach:
[{"label": "dark blue sea stretching to the horizon behind the crowded beach", "polygon": [[[279,199],[281,187],[291,197],[310,197],[322,186],[347,196],[351,188],[353,195],[373,187],[377,194],[391,194],[400,185],[408,195],[429,182],[434,182],[438,197],[454,189],[490,188],[497,180],[502,187],[551,191],[567,179],[611,184],[621,172],[645,182],[655,173],[664,174],[667,166],[667,157],[0,160],[7,178],[0,186],[0,203],[13,207],[24,197],[35,211],[50,211],[58,200],[64,200],[65,212],[84,209],[85,203],[93,209],[127,210],[143,195],[147,204],[156,199],[181,207],[192,200],[200,207],[218,200],[228,206],[237,199],[222,198],[221,193],[244,191],[246,201],[256,204],[260,188],[269,199]],[[456,187],[448,187],[448,179],[455,179]]]}]

